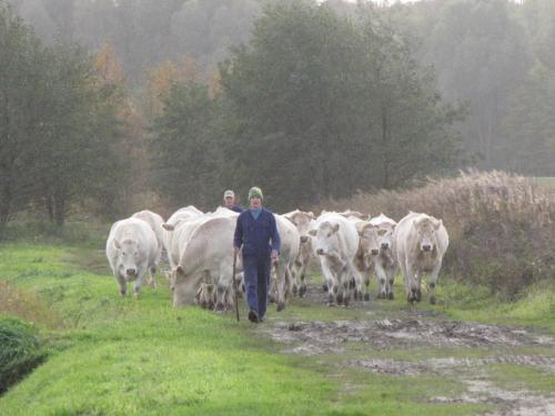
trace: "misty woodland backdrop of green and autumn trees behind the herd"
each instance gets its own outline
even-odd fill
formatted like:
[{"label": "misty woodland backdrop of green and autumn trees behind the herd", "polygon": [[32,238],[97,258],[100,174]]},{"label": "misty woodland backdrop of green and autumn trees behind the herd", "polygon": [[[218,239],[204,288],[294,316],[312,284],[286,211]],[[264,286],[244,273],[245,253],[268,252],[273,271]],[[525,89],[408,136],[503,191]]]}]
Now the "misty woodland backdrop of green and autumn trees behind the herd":
[{"label": "misty woodland backdrop of green and autumn trees behind the herd", "polygon": [[0,225],[555,176],[555,2],[383,4],[0,0]]}]

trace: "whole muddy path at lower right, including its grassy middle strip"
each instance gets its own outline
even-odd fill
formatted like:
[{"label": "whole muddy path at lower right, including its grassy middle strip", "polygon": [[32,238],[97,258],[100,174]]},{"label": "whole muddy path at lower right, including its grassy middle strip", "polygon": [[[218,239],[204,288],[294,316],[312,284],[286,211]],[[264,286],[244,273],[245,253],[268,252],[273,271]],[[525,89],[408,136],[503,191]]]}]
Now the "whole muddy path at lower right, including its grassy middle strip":
[{"label": "whole muddy path at lower right, including its grassy middle strip", "polygon": [[[321,357],[330,372],[433,376],[463,385],[457,395],[431,394],[431,403],[487,404],[494,408],[488,416],[555,415],[555,336],[547,332],[454,321],[402,302],[372,300],[347,310],[325,303],[321,286],[312,284],[305,298],[291,301],[293,312],[271,313],[254,331],[284,354]],[[303,318],[303,311],[310,316]],[[542,386],[514,379],[521,368],[533,372],[532,379],[537,374]]]}]

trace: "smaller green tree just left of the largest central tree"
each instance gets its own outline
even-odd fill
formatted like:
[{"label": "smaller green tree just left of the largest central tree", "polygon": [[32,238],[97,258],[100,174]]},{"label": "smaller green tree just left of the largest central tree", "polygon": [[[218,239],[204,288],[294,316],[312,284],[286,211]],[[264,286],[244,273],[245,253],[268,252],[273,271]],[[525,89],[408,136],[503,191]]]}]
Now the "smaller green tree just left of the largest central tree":
[{"label": "smaller green tree just left of the largest central tree", "polygon": [[205,85],[194,82],[174,83],[164,103],[152,129],[153,186],[169,206],[209,209],[221,192],[216,103]]}]

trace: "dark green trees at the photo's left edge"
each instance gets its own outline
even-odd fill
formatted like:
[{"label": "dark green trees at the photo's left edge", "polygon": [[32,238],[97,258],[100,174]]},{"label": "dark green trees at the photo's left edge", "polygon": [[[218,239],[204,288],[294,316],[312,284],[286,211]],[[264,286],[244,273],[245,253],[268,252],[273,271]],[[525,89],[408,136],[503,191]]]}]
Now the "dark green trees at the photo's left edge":
[{"label": "dark green trees at the photo's left edge", "polygon": [[44,206],[62,226],[72,203],[114,200],[124,181],[120,85],[100,82],[84,50],[41,44],[0,2],[0,237],[14,212]]}]

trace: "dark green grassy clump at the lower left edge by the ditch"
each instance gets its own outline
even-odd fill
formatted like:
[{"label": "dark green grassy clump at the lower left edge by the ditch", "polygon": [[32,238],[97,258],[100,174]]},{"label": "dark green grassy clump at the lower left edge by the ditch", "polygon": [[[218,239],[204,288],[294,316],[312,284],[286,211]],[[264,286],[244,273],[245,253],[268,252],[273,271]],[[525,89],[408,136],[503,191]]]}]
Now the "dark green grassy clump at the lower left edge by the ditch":
[{"label": "dark green grassy clump at the lower left edge by the ditch", "polygon": [[0,315],[0,393],[23,378],[44,358],[46,353],[31,325]]}]

